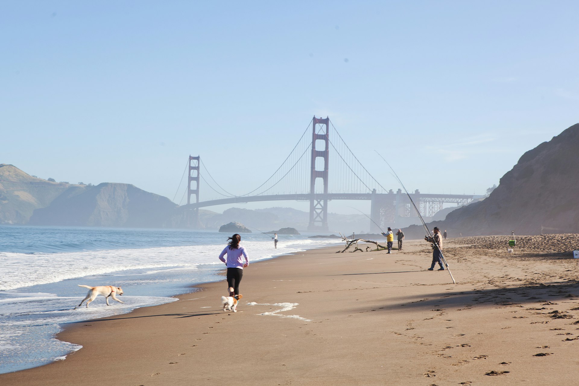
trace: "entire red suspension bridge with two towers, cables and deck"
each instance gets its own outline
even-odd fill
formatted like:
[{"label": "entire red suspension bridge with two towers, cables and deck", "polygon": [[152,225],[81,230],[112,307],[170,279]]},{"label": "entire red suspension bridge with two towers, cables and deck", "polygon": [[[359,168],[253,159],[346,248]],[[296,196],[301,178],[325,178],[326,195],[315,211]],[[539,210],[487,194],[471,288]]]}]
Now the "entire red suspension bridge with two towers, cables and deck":
[{"label": "entire red suspension bridge with two towers, cables and deck", "polygon": [[[332,135],[330,135],[330,126]],[[311,130],[311,135],[307,132]],[[332,159],[332,167],[329,160]],[[416,216],[415,209],[401,189],[394,192],[382,186],[357,159],[334,124],[315,116],[298,143],[280,167],[261,185],[236,195],[223,189],[211,176],[201,156],[189,156],[188,186],[185,192],[189,223],[199,226],[199,208],[256,201],[309,201],[308,231],[328,231],[328,201],[369,200],[370,218],[380,227],[395,225],[398,217]],[[308,178],[309,176],[309,178]],[[432,216],[445,203],[468,204],[474,194],[410,194],[422,216]],[[371,231],[379,231],[370,222]]]}]

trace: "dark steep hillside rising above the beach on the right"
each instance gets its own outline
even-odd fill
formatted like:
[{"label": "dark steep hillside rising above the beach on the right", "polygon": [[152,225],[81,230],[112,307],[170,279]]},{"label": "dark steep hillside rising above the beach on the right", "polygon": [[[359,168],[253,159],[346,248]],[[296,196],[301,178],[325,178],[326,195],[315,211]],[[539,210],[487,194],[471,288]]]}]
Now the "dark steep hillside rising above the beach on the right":
[{"label": "dark steep hillside rising above the beach on the right", "polygon": [[[579,232],[579,124],[529,150],[485,200],[431,222],[449,237]],[[409,236],[423,237],[422,227]]]}]

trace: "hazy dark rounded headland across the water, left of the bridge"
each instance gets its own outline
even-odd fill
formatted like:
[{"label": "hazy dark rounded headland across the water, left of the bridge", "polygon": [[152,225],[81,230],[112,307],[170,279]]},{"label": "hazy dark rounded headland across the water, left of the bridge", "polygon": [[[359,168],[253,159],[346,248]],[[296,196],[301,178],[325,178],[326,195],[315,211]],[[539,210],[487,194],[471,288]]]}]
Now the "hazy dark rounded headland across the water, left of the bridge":
[{"label": "hazy dark rounded headland across the water, left of the bridge", "polygon": [[46,208],[36,209],[31,225],[163,227],[177,204],[127,183],[71,186]]}]

